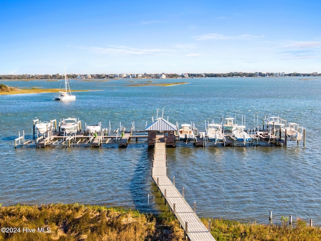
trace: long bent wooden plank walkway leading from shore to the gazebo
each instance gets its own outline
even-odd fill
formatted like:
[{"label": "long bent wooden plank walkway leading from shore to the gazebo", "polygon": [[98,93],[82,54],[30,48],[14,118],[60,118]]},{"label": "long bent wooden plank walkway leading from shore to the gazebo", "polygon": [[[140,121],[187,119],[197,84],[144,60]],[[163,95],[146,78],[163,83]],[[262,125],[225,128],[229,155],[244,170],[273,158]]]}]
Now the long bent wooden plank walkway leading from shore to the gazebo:
[{"label": "long bent wooden plank walkway leading from shore to the gazebo", "polygon": [[[165,200],[170,205],[186,236],[190,240],[214,240],[215,238],[196,215],[184,196],[167,176],[167,154],[165,143],[157,142],[154,148],[152,178]],[[175,181],[174,181],[175,182]]]}]

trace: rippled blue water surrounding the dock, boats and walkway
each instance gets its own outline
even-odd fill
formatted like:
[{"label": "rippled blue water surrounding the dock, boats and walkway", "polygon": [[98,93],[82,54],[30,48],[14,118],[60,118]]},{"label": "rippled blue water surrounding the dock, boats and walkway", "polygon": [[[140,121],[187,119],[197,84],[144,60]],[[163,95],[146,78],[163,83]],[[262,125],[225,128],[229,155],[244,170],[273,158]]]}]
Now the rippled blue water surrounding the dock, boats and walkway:
[{"label": "rippled blue water surrounding the dock, boats and walkway", "polygon": [[[126,86],[181,82],[175,86]],[[19,87],[58,88],[58,81],[2,81]],[[145,140],[103,148],[14,148],[18,132],[32,138],[33,119],[79,117],[84,126],[101,122],[144,130],[156,109],[173,124],[220,122],[232,116],[253,128],[253,117],[280,115],[306,129],[306,144],[287,147],[207,146],[180,144],[168,149],[169,177],[185,187],[187,201],[200,216],[268,222],[292,215],[321,225],[321,78],[204,78],[172,80],[71,80],[72,102],[53,101],[53,93],[0,95],[0,203],[88,203],[157,212],[150,177],[152,150]],[[159,113],[160,115],[161,113]],[[256,117],[255,117],[256,119]],[[149,205],[147,194],[150,195]]]}]

